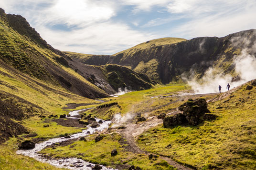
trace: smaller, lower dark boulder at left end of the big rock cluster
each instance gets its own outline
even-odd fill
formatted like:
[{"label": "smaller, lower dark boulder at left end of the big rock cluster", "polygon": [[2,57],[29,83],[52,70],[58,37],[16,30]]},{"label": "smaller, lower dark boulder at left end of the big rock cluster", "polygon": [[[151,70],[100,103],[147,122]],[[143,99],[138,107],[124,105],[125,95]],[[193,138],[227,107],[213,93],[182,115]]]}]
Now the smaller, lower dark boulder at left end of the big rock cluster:
[{"label": "smaller, lower dark boulder at left end of the big rock cluster", "polygon": [[186,117],[182,113],[178,113],[175,115],[167,116],[163,119],[163,127],[169,128],[172,126],[181,125],[187,123]]}]

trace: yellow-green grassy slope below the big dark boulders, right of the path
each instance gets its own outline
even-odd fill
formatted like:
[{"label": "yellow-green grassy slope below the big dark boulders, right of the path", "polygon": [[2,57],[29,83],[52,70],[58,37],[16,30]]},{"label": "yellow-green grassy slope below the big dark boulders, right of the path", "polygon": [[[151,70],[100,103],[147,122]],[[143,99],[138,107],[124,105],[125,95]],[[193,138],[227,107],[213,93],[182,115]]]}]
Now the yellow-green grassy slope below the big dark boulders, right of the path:
[{"label": "yellow-green grassy slope below the big dark boulders, right of the path", "polygon": [[[244,86],[234,97],[209,103],[217,120],[198,126],[152,128],[139,137],[139,146],[197,169],[255,169],[255,91],[248,95]],[[219,106],[223,108],[216,109]]]}]

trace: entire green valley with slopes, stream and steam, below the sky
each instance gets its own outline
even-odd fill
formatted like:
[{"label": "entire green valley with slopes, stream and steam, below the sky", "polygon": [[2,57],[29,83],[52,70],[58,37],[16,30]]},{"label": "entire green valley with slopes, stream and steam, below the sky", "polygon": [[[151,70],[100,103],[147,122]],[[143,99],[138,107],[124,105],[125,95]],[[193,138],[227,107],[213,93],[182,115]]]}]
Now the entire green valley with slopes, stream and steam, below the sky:
[{"label": "entire green valley with slopes, stream and steam, below the sky", "polygon": [[0,8],[0,169],[256,169],[255,40],[80,54]]}]

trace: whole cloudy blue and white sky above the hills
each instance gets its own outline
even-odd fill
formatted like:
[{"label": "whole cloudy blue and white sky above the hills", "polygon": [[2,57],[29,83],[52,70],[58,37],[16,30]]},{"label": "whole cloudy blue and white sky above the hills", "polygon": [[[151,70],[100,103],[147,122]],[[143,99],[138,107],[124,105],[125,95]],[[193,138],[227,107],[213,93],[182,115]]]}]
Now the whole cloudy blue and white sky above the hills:
[{"label": "whole cloudy blue and white sky above the hills", "polygon": [[0,0],[55,49],[114,54],[139,43],[256,29],[256,0]]}]

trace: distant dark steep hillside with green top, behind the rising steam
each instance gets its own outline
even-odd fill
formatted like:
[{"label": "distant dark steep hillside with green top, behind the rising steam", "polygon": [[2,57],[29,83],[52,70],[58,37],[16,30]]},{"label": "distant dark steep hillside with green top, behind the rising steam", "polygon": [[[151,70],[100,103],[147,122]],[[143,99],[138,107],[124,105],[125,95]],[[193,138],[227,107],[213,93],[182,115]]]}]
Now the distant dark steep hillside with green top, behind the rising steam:
[{"label": "distant dark steep hillside with green top, behind the rising steam", "polygon": [[[159,41],[162,39],[159,39]],[[162,83],[188,78],[193,73],[196,78],[202,78],[205,71],[213,67],[218,73],[235,72],[235,57],[245,52],[255,55],[252,48],[255,45],[256,31],[246,30],[230,34],[223,38],[202,37],[192,40],[174,39],[165,43],[154,43],[151,40],[139,44],[131,49],[124,50],[112,56],[83,55],[76,56],[67,53],[73,59],[92,65],[115,63],[124,65],[132,70],[145,73],[150,79]],[[147,45],[150,44],[150,45]],[[98,62],[101,60],[102,62]]]}]

